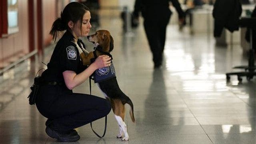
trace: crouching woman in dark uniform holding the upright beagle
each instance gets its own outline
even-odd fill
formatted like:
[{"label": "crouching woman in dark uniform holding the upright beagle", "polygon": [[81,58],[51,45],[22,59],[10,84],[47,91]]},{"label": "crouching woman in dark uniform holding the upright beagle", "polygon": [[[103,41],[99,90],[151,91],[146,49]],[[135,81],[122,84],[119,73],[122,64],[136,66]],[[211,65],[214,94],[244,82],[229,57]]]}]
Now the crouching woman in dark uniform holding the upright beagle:
[{"label": "crouching woman in dark uniform holding the upright beagle", "polygon": [[74,130],[106,116],[110,103],[100,97],[73,93],[98,68],[110,66],[109,56],[99,56],[87,68],[82,65],[77,46],[85,47],[78,39],[90,32],[89,9],[78,2],[69,3],[55,20],[50,34],[56,40],[58,31],[66,30],[42,73],[42,82],[36,98],[39,112],[48,118],[46,133],[62,142],[74,142],[80,136]]}]

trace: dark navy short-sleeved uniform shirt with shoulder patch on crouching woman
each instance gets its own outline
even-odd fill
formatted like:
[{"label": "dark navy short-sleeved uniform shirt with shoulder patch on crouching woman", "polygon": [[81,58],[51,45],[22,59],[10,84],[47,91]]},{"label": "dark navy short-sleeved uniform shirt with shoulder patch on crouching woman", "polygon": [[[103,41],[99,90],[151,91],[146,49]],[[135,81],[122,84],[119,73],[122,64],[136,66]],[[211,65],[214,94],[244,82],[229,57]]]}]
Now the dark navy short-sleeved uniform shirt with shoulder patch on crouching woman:
[{"label": "dark navy short-sleeved uniform shirt with shoulder patch on crouching woman", "polygon": [[[65,85],[62,72],[71,70],[78,74],[86,69],[86,66],[82,65],[76,44],[72,42],[73,39],[74,36],[67,30],[58,41],[50,62],[47,64],[47,69],[42,73],[43,80]],[[78,40],[78,43],[85,48],[82,40]]]}]

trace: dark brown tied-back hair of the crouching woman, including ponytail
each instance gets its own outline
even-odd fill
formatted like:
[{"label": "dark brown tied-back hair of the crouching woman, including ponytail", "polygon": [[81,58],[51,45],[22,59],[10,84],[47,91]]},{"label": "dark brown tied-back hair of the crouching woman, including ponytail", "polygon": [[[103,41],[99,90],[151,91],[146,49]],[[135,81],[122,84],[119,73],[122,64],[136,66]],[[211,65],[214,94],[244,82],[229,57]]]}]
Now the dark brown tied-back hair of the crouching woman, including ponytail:
[{"label": "dark brown tied-back hair of the crouching woman, including ponytail", "polygon": [[58,31],[70,30],[68,27],[70,20],[74,23],[80,20],[80,27],[82,27],[83,16],[87,11],[89,11],[89,8],[78,2],[70,2],[66,5],[60,14],[60,18],[57,18],[52,24],[50,34],[53,36],[54,41],[56,40]]}]

